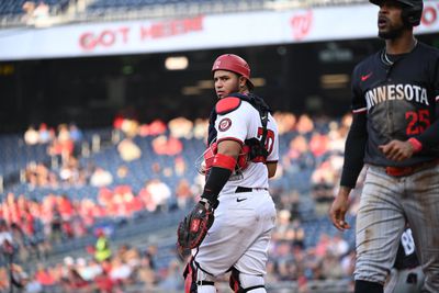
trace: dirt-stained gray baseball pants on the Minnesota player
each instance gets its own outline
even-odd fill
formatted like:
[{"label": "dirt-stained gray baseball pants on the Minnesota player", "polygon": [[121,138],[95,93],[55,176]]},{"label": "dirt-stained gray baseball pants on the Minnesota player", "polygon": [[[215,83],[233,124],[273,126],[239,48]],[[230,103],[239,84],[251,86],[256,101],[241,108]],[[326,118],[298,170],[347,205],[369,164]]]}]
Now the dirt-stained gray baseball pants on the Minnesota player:
[{"label": "dirt-stained gray baseball pants on the Minnesota player", "polygon": [[354,279],[384,284],[406,221],[426,275],[423,292],[439,292],[439,166],[395,178],[369,166],[357,214]]}]

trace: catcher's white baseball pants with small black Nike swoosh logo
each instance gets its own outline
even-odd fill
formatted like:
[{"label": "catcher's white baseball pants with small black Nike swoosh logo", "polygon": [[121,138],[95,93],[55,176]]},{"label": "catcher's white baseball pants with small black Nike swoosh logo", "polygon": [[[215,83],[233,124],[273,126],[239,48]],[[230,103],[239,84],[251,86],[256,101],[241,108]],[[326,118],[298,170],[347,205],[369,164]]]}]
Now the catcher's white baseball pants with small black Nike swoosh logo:
[{"label": "catcher's white baseball pants with small black Nike swoosh logo", "polygon": [[217,277],[232,267],[252,275],[264,275],[274,203],[267,190],[219,194],[215,221],[201,246],[192,250],[195,262]]}]

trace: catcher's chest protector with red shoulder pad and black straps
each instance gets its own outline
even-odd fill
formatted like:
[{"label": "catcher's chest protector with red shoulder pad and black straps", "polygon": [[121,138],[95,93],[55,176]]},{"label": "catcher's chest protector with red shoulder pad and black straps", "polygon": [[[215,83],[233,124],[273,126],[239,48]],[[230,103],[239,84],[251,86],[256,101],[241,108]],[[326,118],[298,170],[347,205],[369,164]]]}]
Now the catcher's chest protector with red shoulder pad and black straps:
[{"label": "catcher's chest protector with red shoulder pad and black straps", "polygon": [[256,110],[259,112],[259,116],[262,125],[262,134],[261,138],[252,137],[246,139],[244,142],[243,151],[239,154],[237,159],[237,165],[235,170],[245,170],[248,167],[248,162],[266,162],[268,157],[267,150],[267,123],[268,123],[268,114],[270,113],[270,108],[266,104],[266,102],[255,95],[255,94],[241,94],[241,93],[232,93],[227,98],[221,100],[215,109],[211,112],[211,116],[209,120],[209,138],[207,144],[209,147],[203,154],[203,158],[201,164],[196,164],[199,166],[199,171],[201,173],[206,173],[213,162],[213,158],[217,153],[216,145],[216,129],[215,129],[215,121],[217,114],[224,115],[239,108],[241,101],[247,101],[250,103]]}]

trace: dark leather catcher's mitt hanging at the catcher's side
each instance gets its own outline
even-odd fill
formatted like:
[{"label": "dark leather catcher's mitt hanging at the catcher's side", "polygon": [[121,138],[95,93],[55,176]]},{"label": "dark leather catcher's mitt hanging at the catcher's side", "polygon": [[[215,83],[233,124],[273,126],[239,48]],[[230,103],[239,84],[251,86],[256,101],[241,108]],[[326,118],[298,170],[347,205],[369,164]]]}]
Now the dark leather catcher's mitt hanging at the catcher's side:
[{"label": "dark leather catcher's mitt hanging at the catcher's side", "polygon": [[201,199],[191,213],[180,222],[177,230],[177,245],[180,252],[201,245],[213,224],[213,211],[209,201]]}]

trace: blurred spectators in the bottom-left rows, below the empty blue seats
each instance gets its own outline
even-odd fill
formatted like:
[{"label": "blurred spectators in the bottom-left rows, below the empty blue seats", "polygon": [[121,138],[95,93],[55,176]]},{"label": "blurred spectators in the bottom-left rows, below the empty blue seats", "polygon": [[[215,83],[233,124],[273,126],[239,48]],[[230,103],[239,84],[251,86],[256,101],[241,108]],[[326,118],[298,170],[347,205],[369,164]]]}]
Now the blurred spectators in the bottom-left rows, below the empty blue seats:
[{"label": "blurred spectators in the bottom-left rows, below the empty blue seats", "polygon": [[157,292],[158,289],[171,292],[182,289],[180,263],[172,260],[167,268],[158,269],[156,253],[154,245],[144,249],[121,245],[105,259],[67,256],[54,266],[37,263],[32,273],[15,263],[10,266],[12,275],[9,268],[0,268],[0,292],[8,292],[11,283],[15,292],[29,293],[122,293],[127,288],[135,288],[135,292]]}]

